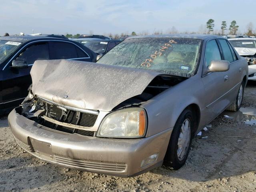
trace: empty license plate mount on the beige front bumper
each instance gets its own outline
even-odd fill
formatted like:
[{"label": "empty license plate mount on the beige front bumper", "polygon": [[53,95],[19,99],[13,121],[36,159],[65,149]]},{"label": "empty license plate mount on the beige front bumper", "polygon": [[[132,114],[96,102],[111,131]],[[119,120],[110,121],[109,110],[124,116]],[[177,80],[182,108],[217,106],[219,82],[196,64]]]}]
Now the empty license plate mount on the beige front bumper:
[{"label": "empty license plate mount on the beige front bumper", "polygon": [[48,157],[52,156],[52,145],[50,143],[39,141],[31,137],[29,138],[29,140],[32,147],[34,148],[34,151],[37,154],[48,156]]}]

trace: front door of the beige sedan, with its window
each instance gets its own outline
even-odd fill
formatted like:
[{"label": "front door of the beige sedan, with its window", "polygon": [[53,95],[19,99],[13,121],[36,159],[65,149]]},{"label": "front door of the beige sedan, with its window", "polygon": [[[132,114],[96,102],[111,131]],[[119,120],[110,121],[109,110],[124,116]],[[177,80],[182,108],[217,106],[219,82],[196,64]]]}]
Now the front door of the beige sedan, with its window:
[{"label": "front door of the beige sedan, with its window", "polygon": [[[203,67],[208,67],[212,60],[224,60],[220,45],[215,39],[206,43]],[[230,100],[225,96],[232,88],[230,79],[228,79],[230,76],[230,70],[202,74],[202,82],[204,84],[203,102],[207,113],[205,114],[205,123],[211,121],[211,117],[218,116],[230,104]]]}]

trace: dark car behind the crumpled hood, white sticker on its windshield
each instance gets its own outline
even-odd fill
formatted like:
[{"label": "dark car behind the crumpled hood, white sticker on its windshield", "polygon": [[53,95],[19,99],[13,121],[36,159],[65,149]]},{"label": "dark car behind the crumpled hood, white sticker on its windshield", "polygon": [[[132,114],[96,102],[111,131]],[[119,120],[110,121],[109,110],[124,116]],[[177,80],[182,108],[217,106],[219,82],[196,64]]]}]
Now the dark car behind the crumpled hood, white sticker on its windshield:
[{"label": "dark car behind the crumpled hood, white sticker on its windshield", "polygon": [[84,46],[97,54],[104,55],[120,42],[120,40],[93,40],[85,43]]}]

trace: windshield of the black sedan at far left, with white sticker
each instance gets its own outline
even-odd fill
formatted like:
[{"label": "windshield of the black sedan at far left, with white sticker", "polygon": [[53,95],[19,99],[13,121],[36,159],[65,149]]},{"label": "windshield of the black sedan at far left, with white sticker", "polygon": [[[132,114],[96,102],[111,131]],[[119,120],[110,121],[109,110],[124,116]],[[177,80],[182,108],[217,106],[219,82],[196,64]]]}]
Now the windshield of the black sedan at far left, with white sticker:
[{"label": "windshield of the black sedan at far left, with white sticker", "polygon": [[0,63],[4,62],[20,44],[20,42],[0,40]]}]

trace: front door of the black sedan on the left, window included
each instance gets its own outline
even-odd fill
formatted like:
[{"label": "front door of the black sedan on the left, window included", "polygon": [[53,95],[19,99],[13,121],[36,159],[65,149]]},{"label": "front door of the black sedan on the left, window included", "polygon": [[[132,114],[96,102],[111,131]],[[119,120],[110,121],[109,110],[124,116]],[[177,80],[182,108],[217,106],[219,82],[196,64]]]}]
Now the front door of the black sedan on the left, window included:
[{"label": "front door of the black sedan on the left, window included", "polygon": [[[23,60],[28,64],[27,68],[13,68],[12,60]],[[18,106],[28,95],[28,87],[32,83],[30,70],[35,60],[48,60],[49,50],[47,42],[31,43],[8,63],[2,71],[2,106],[1,108],[13,108]]]}]

